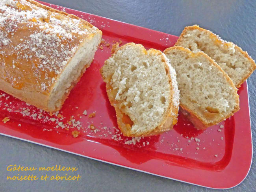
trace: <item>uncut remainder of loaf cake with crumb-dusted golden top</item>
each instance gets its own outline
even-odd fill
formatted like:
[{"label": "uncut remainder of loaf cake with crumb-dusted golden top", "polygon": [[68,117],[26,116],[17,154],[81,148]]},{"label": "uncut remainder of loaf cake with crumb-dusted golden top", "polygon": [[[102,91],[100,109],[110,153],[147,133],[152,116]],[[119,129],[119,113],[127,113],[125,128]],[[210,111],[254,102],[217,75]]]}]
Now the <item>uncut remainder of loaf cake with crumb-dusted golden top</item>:
[{"label": "uncut remainder of loaf cake with crumb-dusted golden top", "polygon": [[0,90],[58,111],[90,66],[102,32],[33,0],[0,1]]}]

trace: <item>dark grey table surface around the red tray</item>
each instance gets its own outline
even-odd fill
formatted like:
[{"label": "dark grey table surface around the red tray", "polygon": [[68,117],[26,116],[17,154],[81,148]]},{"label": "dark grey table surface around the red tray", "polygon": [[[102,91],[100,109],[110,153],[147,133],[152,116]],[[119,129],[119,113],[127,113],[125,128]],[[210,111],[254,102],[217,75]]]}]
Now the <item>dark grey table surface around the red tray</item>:
[{"label": "dark grey table surface around the red tray", "polygon": [[[238,44],[256,59],[256,1],[243,0],[45,0],[95,15],[180,35],[187,25],[199,24],[223,39]],[[256,130],[256,72],[248,79],[253,149]],[[227,191],[256,190],[255,153],[246,179]],[[76,166],[82,179],[76,182],[7,181],[9,164]],[[15,191],[215,191],[134,170],[98,162],[77,155],[0,136],[0,192]],[[35,172],[37,173],[37,172]]]}]

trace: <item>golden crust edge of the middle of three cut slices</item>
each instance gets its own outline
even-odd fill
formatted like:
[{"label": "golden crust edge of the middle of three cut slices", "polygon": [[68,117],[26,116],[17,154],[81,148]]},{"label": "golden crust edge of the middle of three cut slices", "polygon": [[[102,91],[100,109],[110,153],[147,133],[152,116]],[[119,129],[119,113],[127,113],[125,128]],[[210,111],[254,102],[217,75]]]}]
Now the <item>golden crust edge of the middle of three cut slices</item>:
[{"label": "golden crust edge of the middle of three cut slices", "polygon": [[[226,78],[226,80],[228,81],[228,83],[230,84],[230,87],[233,88],[233,90],[237,91],[233,81],[230,79],[230,77],[223,71],[223,69],[217,64],[215,63],[215,61],[213,61],[213,59],[211,59],[211,57],[209,57],[208,55],[204,54],[203,52],[197,52],[197,53],[193,53],[191,52],[189,49],[187,48],[184,48],[184,47],[181,47],[181,46],[174,46],[174,47],[170,47],[170,48],[167,48],[166,50],[163,51],[163,53],[167,53],[173,49],[176,49],[176,50],[182,50],[182,51],[185,51],[187,52],[188,54],[191,54],[193,55],[193,57],[197,57],[198,55],[202,55],[203,57],[205,57],[206,59],[209,60],[209,62],[211,63],[211,65],[215,66],[218,68],[218,70],[224,75],[224,77]],[[237,94],[236,95],[236,107],[234,109],[234,111],[232,111],[231,113],[227,114],[226,116],[224,116],[223,118],[219,119],[219,120],[216,120],[214,122],[211,122],[211,123],[207,123],[207,122],[204,122],[204,120],[202,118],[200,118],[200,116],[197,115],[197,113],[195,113],[195,111],[191,111],[191,109],[189,109],[189,107],[186,105],[186,103],[182,103],[180,101],[180,106],[186,110],[188,113],[191,114],[191,119],[193,118],[197,118],[198,120],[200,120],[202,122],[202,124],[204,124],[204,129],[207,128],[207,127],[210,127],[210,126],[213,126],[213,125],[216,125],[218,124],[219,122],[222,122],[223,120],[226,120],[226,118],[230,117],[230,116],[233,116],[234,113],[236,113],[240,108],[239,108],[239,95]],[[197,127],[198,129],[202,129],[200,127]]]}]

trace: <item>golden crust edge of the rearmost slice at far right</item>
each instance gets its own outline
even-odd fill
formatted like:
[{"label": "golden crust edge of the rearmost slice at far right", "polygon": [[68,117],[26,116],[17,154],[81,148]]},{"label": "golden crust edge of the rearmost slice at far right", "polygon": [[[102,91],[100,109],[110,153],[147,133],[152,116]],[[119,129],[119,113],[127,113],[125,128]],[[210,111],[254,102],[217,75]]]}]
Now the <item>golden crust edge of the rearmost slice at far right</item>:
[{"label": "golden crust edge of the rearmost slice at far right", "polygon": [[[186,33],[186,31],[189,30],[200,30],[200,31],[204,31],[206,33],[208,33],[210,35],[210,37],[215,41],[215,42],[220,42],[221,44],[225,45],[226,47],[228,47],[228,45],[230,44],[230,42],[224,42],[223,40],[221,40],[217,35],[215,35],[214,33],[212,33],[209,30],[200,28],[198,25],[193,25],[193,26],[187,26],[184,28],[184,30],[182,31],[182,33],[180,34],[179,39],[177,40],[177,42],[174,44],[174,46],[179,46],[180,41],[183,37],[183,35]],[[237,46],[235,44],[234,47],[236,50],[238,50],[241,54],[243,54],[251,63],[252,66],[252,70],[248,71],[247,74],[239,81],[239,83],[237,83],[236,87],[239,88],[241,86],[241,84],[250,77],[250,75],[254,72],[254,70],[256,69],[256,64],[255,61],[248,55],[247,52],[243,51],[239,46]]]}]

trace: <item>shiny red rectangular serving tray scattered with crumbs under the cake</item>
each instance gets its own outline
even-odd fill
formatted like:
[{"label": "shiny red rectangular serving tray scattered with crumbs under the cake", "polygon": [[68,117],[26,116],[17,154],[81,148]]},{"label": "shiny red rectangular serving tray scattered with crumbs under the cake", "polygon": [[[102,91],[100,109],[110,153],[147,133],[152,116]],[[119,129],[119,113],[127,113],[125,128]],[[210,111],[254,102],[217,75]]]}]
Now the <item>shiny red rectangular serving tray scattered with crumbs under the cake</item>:
[{"label": "shiny red rectangular serving tray scattered with crumbs under the cake", "polygon": [[[135,42],[143,44],[147,49],[163,51],[173,46],[178,38],[89,13],[41,3],[87,20],[102,30],[103,39],[109,44],[121,40],[122,44]],[[78,137],[74,138],[71,134],[76,128],[55,128],[54,122],[33,118],[31,114],[40,113],[39,109],[32,105],[28,106],[8,94],[0,98],[0,115],[11,120],[5,124],[0,121],[0,134],[209,188],[232,188],[245,179],[252,162],[252,135],[246,82],[238,91],[241,109],[221,123],[224,128],[221,129],[219,124],[205,131],[198,131],[180,113],[173,130],[157,136],[135,138],[134,144],[132,138],[120,135],[119,130],[113,128],[117,127],[115,110],[109,103],[106,84],[99,73],[100,67],[111,55],[111,45],[102,47],[102,50],[98,49],[96,52],[93,63],[71,91],[60,111],[65,121],[73,115],[82,123]],[[9,107],[12,112],[8,111]],[[22,107],[30,109],[29,115],[23,116],[13,112],[21,110]],[[84,110],[87,110],[88,114],[96,111],[96,116],[89,118],[89,115],[82,115]],[[51,118],[46,112],[43,112],[43,116]],[[96,133],[87,128],[91,124],[97,128]]]}]

